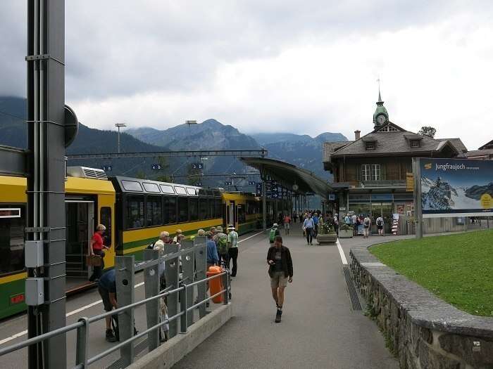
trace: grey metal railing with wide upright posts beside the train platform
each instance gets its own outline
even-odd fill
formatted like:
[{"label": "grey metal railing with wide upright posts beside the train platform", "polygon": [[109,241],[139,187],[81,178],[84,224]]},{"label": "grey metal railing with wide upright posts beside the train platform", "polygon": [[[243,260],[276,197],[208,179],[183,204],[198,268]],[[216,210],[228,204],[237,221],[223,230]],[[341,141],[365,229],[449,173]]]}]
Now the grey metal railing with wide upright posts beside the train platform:
[{"label": "grey metal railing with wide upright posts beside the train platform", "polygon": [[[186,333],[189,326],[194,323],[193,311],[199,308],[199,319],[206,315],[206,306],[209,301],[223,294],[223,304],[230,303],[230,271],[225,269],[223,272],[214,276],[206,277],[206,247],[204,238],[195,238],[194,242],[185,241],[182,250],[178,250],[177,245],[169,245],[175,248],[171,254],[161,257],[154,250],[144,250],[143,262],[135,264],[134,257],[116,257],[116,285],[118,305],[123,305],[112,311],[93,316],[91,318],[80,318],[77,323],[66,325],[65,327],[46,332],[42,335],[26,339],[23,342],[12,344],[0,349],[0,356],[9,354],[13,351],[38,344],[46,339],[57,335],[63,335],[72,330],[77,330],[77,343],[75,354],[75,365],[72,368],[85,369],[89,365],[101,360],[120,349],[120,365],[126,367],[135,358],[133,343],[145,335],[148,335],[147,344],[149,351],[156,349],[159,345],[158,332],[163,325],[170,325],[169,338],[177,335],[177,329],[173,328],[173,323],[177,325],[177,318],[180,318],[180,333]],[[194,245],[194,243],[196,245]],[[193,255],[193,257],[191,257]],[[182,266],[182,279],[179,278],[180,259]],[[171,280],[170,285],[160,290],[160,278],[158,273],[159,264],[165,264],[166,279]],[[199,269],[199,266],[203,267]],[[144,286],[146,298],[139,302],[133,302],[135,288],[133,283],[135,271],[144,270]],[[206,297],[206,284],[215,278],[223,279],[223,289],[210,297]],[[198,279],[198,280],[195,280]],[[130,283],[130,280],[132,283]],[[191,283],[185,283],[191,280]],[[174,283],[174,284],[173,284]],[[180,286],[181,285],[181,286]],[[192,304],[194,287],[198,289],[198,302]],[[130,292],[130,293],[129,293]],[[153,293],[157,292],[157,293]],[[192,293],[190,293],[192,292]],[[192,298],[190,298],[192,296]],[[158,309],[159,299],[167,298],[168,311],[173,315],[159,321]],[[173,306],[180,302],[179,307]],[[149,304],[154,303],[149,309]],[[146,305],[147,329],[134,334],[133,311],[138,306]],[[176,309],[172,309],[176,308]],[[120,342],[105,351],[89,357],[89,325],[101,321],[108,316],[119,316]],[[125,317],[127,319],[125,319]],[[177,328],[177,327],[175,327]]]}]

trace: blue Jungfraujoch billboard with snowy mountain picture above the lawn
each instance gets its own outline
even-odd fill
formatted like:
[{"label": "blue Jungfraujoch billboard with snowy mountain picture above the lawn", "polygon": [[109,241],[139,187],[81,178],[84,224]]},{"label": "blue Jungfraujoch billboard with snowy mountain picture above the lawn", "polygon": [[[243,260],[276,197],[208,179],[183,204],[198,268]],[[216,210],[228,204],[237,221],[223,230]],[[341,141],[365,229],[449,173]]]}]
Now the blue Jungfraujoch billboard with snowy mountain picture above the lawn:
[{"label": "blue Jungfraujoch billboard with snowy mountain picture above the lawn", "polygon": [[493,215],[493,162],[420,159],[423,218]]}]

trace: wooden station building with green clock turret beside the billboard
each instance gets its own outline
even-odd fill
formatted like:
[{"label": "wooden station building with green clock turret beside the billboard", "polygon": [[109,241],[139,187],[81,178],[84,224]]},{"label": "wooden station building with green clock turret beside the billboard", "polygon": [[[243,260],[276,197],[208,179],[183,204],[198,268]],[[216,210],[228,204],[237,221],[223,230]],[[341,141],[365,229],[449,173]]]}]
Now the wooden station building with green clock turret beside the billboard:
[{"label": "wooden station building with green clock turret beside the billboard", "polygon": [[[463,157],[466,146],[460,138],[430,138],[394,124],[380,91],[373,113],[373,129],[364,136],[354,132],[354,141],[326,142],[324,169],[334,176],[334,211],[342,214],[382,216],[389,233],[393,214],[399,214],[399,233],[413,233],[413,157]],[[463,219],[425,219],[425,233],[462,231]],[[376,231],[376,228],[375,230]]]}]

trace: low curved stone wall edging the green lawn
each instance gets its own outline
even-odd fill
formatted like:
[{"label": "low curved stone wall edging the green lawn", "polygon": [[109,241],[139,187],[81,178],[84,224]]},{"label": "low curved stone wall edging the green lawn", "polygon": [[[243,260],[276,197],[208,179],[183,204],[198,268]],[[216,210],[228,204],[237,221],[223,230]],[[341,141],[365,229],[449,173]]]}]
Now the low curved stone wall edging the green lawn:
[{"label": "low curved stone wall edging the green lawn", "polygon": [[[472,316],[351,249],[351,271],[403,369],[493,369],[493,318]],[[492,295],[493,298],[493,295]]]}]

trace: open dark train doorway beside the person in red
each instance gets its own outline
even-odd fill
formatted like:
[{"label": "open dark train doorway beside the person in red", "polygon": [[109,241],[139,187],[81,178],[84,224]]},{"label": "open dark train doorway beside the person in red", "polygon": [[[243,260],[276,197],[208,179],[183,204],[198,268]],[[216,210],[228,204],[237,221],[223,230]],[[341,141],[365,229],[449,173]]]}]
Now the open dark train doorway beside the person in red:
[{"label": "open dark train doorway beside the person in red", "polygon": [[65,209],[67,290],[71,290],[85,283],[92,273],[92,267],[86,264],[86,255],[94,231],[94,201],[65,200]]}]

